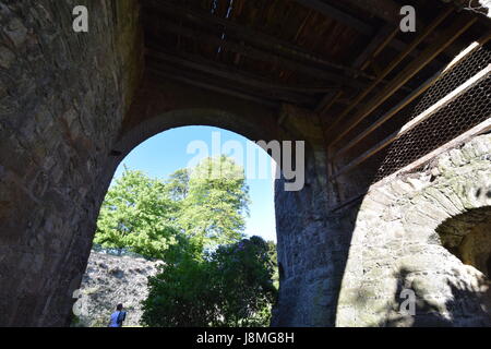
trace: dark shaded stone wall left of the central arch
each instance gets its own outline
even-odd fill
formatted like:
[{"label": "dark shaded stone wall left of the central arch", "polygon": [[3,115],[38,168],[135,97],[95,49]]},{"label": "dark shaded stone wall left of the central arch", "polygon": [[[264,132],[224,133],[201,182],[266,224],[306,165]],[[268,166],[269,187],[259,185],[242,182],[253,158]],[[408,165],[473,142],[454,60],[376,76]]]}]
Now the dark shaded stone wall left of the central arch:
[{"label": "dark shaded stone wall left of the central arch", "polygon": [[[135,1],[0,2],[0,326],[67,325],[137,84]],[[119,1],[118,1],[119,3]],[[89,9],[89,33],[72,10]]]}]

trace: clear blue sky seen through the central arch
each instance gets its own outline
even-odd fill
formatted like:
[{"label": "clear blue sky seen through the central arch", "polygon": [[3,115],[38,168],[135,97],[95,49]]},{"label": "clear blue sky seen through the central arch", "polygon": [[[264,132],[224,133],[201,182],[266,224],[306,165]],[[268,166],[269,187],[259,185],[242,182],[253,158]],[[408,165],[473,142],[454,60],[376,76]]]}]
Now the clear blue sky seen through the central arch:
[{"label": "clear blue sky seen through the central arch", "polygon": [[[166,179],[173,171],[188,167],[197,157],[205,156],[203,152],[196,149],[189,154],[193,145],[199,145],[202,148],[206,145],[209,156],[218,155],[218,153],[231,156],[237,163],[244,166],[246,171],[248,169],[252,171],[252,164],[255,164],[256,167],[260,161],[271,164],[270,156],[254,144],[251,148],[256,149],[256,158],[255,161],[249,163],[250,166],[248,167],[246,160],[248,142],[246,137],[237,133],[217,128],[187,127],[172,129],[155,135],[134,148],[121,161],[115,178],[120,177],[123,172],[123,166],[127,166],[132,170],[144,171],[151,177]],[[229,151],[227,151],[227,146],[224,147],[224,145],[231,145],[231,147],[229,146]],[[249,146],[251,146],[250,142]],[[255,171],[255,176],[247,178],[251,204],[246,233],[248,236],[261,236],[265,240],[276,242],[273,171],[270,166],[267,167],[266,178],[259,178],[264,177],[260,176],[259,171]]]}]

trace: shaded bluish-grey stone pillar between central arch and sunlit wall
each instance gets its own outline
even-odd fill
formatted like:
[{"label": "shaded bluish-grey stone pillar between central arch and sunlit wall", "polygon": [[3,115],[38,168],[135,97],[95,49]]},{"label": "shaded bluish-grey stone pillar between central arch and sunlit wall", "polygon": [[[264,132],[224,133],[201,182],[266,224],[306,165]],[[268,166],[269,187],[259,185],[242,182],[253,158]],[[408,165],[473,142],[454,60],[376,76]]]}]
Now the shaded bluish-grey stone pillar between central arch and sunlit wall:
[{"label": "shaded bluish-grey stone pillar between central arch and sunlit wall", "polygon": [[[328,215],[326,156],[319,118],[284,107],[285,139],[306,140],[306,186],[275,191],[280,289],[275,326],[334,326],[350,234]],[[349,229],[348,229],[349,230]]]}]

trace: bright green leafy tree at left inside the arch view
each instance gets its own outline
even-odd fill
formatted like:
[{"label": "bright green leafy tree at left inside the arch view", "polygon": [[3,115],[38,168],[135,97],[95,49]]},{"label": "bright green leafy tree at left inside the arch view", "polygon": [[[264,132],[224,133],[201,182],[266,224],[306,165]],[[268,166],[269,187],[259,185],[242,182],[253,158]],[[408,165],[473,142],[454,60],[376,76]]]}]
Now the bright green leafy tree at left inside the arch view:
[{"label": "bright green leafy tree at left inside the arch view", "polygon": [[161,181],[125,169],[103,203],[94,243],[164,258],[177,243],[177,215]]}]

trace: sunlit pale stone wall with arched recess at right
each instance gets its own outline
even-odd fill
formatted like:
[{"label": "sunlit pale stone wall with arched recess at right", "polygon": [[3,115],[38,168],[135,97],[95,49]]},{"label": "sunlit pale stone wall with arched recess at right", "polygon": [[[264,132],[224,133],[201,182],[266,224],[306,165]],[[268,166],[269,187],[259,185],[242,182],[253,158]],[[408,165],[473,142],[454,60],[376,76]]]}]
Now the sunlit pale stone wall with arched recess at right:
[{"label": "sunlit pale stone wall with arched recess at right", "polygon": [[[478,270],[489,263],[490,152],[491,135],[481,135],[427,171],[370,189],[354,230],[337,325],[491,325],[491,282]],[[404,289],[416,293],[414,315],[400,312]]]}]

